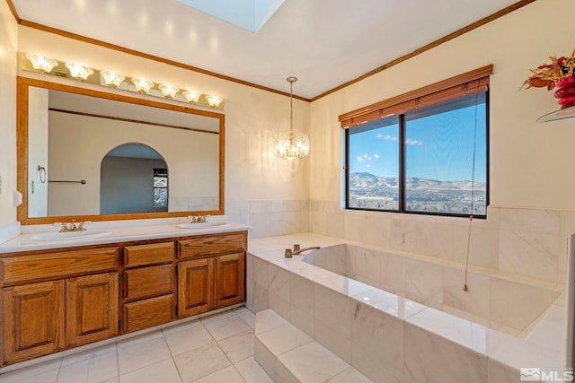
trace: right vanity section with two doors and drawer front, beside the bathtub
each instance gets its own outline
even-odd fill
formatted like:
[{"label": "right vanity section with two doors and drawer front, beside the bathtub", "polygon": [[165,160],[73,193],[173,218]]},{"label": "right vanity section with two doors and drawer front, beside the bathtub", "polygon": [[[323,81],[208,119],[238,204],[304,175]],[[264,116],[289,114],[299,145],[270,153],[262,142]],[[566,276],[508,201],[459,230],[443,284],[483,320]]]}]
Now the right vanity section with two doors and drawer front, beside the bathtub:
[{"label": "right vanity section with two doors and drawer front, beside the bathtub", "polygon": [[246,249],[246,232],[208,234],[178,241],[179,318],[245,300]]}]

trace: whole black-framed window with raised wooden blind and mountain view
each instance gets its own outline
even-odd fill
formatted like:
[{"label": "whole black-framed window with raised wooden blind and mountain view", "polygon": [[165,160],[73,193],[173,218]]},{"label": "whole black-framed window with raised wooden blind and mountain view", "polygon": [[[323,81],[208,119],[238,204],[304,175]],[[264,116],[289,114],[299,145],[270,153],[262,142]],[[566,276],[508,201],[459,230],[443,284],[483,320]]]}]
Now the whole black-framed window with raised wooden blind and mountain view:
[{"label": "whole black-framed window with raised wooden blind and mountain view", "polygon": [[486,215],[489,69],[482,69],[464,83],[450,79],[429,94],[340,117],[348,209]]}]

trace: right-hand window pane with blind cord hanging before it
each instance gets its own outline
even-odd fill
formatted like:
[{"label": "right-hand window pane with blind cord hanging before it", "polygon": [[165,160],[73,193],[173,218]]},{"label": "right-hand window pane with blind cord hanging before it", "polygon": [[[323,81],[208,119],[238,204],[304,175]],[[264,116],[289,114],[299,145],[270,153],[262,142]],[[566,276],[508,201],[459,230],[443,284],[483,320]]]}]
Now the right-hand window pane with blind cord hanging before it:
[{"label": "right-hand window pane with blind cord hanging before it", "polygon": [[406,211],[486,214],[485,95],[405,114]]}]

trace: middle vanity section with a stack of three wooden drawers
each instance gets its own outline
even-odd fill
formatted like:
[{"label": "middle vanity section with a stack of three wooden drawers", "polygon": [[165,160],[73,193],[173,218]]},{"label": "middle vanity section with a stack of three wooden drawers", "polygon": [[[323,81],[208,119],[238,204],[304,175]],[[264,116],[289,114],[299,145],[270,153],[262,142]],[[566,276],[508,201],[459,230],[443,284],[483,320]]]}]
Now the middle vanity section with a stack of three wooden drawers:
[{"label": "middle vanity section with a stack of three wooden drawers", "polygon": [[175,319],[173,241],[124,248],[124,333]]}]

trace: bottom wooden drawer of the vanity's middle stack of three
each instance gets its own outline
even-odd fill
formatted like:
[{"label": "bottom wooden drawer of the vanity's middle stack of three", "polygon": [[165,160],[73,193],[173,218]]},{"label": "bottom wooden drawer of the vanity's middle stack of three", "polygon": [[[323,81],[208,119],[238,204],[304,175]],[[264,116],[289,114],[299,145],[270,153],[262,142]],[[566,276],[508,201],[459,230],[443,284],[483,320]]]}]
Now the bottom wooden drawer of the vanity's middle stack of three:
[{"label": "bottom wooden drawer of the vanity's middle stack of three", "polygon": [[124,332],[162,325],[173,320],[173,294],[124,305]]}]

